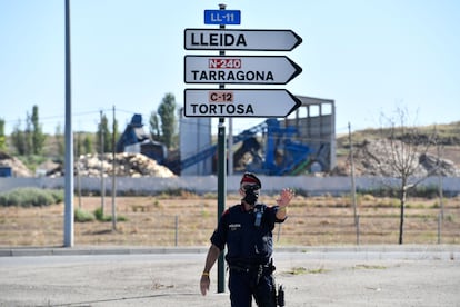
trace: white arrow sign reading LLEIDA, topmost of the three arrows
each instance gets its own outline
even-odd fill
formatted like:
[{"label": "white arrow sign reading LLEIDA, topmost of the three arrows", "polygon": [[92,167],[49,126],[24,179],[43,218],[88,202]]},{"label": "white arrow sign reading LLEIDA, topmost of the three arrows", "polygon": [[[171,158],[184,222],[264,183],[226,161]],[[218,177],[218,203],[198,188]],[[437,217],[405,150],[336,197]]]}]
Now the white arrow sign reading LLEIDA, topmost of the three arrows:
[{"label": "white arrow sign reading LLEIDA, topmost of the three arrows", "polygon": [[292,30],[184,30],[187,50],[291,51],[301,42]]}]

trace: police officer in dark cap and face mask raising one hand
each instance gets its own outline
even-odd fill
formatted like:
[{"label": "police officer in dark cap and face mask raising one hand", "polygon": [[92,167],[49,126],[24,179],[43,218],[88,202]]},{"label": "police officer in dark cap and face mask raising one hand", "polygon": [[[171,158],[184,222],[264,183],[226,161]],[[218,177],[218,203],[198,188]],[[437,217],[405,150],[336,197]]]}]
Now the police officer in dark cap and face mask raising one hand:
[{"label": "police officer in dark cap and face mask raising one hand", "polygon": [[209,273],[227,245],[232,307],[251,306],[252,297],[258,306],[277,306],[271,259],[272,230],[276,222],[286,220],[286,208],[293,192],[283,189],[277,199],[278,205],[268,207],[257,202],[261,187],[254,174],[246,172],[242,176],[239,190],[241,204],[230,207],[220,217],[201,275],[201,294],[206,295],[210,285]]}]

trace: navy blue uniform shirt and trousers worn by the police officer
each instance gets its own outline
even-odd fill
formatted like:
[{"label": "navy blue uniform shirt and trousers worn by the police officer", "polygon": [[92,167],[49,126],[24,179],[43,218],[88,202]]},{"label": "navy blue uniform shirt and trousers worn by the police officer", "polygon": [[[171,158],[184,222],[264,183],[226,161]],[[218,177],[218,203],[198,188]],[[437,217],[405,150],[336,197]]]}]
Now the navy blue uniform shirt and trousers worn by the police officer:
[{"label": "navy blue uniform shirt and trousers worn by the police officer", "polygon": [[[260,226],[256,226],[256,211],[263,210]],[[226,260],[230,268],[229,289],[232,307],[251,306],[252,296],[259,306],[271,307],[274,303],[274,280],[271,265],[273,252],[272,230],[278,206],[256,205],[254,210],[246,211],[236,205],[223,212],[211,242],[228,252]]]}]

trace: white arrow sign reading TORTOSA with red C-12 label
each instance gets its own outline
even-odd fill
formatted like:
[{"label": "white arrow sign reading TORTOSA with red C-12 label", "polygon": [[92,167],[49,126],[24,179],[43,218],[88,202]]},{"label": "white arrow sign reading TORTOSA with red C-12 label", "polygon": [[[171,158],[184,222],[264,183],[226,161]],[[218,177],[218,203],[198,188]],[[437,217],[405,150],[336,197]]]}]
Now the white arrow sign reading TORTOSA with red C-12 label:
[{"label": "white arrow sign reading TORTOSA with red C-12 label", "polygon": [[302,102],[284,89],[186,89],[186,117],[287,117]]}]

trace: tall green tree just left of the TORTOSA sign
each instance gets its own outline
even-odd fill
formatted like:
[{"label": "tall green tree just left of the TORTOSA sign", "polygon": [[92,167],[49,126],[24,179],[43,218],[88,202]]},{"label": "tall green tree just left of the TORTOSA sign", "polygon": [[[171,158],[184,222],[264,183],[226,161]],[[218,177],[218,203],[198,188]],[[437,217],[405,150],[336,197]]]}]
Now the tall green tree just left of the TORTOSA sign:
[{"label": "tall green tree just left of the TORTOSA sign", "polygon": [[167,93],[158,107],[158,115],[161,118],[161,132],[164,145],[171,148],[176,143],[176,98],[172,93]]}]

